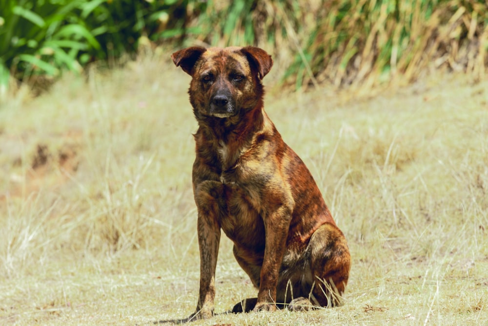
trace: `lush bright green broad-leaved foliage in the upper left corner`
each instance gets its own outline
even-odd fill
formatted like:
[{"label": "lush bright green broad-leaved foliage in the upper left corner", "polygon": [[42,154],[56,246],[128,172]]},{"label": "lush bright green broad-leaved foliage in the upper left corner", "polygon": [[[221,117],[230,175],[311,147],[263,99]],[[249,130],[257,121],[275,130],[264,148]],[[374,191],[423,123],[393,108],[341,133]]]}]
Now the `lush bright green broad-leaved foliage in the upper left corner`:
[{"label": "lush bright green broad-leaved foliage in the upper left corner", "polygon": [[0,86],[8,84],[9,74],[57,76],[62,69],[79,72],[87,62],[134,52],[144,33],[182,36],[187,3],[0,0]]}]

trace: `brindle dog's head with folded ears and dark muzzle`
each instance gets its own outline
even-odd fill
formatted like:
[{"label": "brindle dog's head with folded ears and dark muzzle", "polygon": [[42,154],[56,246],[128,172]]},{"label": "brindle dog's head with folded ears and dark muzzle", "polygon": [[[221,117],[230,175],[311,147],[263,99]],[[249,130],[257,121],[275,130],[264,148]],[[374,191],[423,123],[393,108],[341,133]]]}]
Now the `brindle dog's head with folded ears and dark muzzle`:
[{"label": "brindle dog's head with folded ears and dark muzzle", "polygon": [[171,55],[192,76],[189,94],[197,119],[229,118],[253,109],[263,97],[261,80],[273,65],[258,47],[188,47]]}]

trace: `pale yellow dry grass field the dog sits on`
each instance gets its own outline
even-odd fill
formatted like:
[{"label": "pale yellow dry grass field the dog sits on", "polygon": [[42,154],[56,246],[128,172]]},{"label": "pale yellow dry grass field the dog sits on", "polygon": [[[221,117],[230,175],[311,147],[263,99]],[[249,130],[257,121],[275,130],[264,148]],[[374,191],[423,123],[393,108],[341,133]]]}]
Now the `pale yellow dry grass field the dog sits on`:
[{"label": "pale yellow dry grass field the dog sits on", "polygon": [[[169,54],[0,107],[1,325],[171,325],[194,311],[196,122]],[[217,315],[191,325],[487,325],[488,82],[432,73],[371,96],[302,93],[273,86],[274,69],[266,111],[348,239],[345,304],[227,314],[257,291],[223,237]]]}]

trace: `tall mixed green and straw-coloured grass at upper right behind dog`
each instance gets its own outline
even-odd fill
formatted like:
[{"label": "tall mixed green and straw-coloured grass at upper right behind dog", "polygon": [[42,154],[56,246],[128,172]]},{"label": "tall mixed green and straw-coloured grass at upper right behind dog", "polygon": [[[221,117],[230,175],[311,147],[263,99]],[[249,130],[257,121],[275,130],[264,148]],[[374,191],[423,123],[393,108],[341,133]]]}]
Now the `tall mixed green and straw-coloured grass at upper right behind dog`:
[{"label": "tall mixed green and straw-coloured grass at upper right behind dog", "polygon": [[285,59],[296,87],[412,81],[432,67],[480,80],[488,65],[484,0],[209,2],[197,23],[203,42],[253,43]]}]

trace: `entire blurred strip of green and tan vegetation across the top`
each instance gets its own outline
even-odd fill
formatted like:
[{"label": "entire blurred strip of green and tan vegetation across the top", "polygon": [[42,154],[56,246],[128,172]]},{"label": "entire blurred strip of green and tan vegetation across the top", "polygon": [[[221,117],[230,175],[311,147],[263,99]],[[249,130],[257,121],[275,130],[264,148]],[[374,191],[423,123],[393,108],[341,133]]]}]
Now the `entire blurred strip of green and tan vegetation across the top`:
[{"label": "entire blurred strip of green and tan vegetation across the top", "polygon": [[294,87],[374,86],[488,66],[488,0],[0,0],[0,96],[141,46],[244,45]]}]

